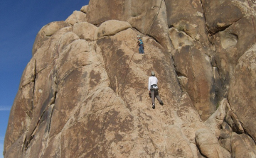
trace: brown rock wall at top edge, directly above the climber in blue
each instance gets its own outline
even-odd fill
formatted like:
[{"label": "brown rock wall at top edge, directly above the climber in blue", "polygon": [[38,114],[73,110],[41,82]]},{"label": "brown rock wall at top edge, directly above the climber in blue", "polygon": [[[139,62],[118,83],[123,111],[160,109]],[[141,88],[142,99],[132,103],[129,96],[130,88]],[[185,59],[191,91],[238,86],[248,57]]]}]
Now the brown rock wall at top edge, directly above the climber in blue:
[{"label": "brown rock wall at top edge, directly above the climber in blue", "polygon": [[[117,1],[91,0],[87,22],[100,24],[109,20],[128,21],[146,35],[153,36],[162,47],[171,50],[166,19],[166,4],[163,0]],[[100,11],[98,11],[100,9]]]}]

